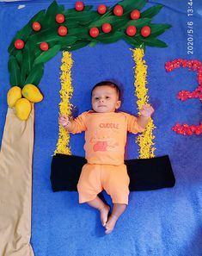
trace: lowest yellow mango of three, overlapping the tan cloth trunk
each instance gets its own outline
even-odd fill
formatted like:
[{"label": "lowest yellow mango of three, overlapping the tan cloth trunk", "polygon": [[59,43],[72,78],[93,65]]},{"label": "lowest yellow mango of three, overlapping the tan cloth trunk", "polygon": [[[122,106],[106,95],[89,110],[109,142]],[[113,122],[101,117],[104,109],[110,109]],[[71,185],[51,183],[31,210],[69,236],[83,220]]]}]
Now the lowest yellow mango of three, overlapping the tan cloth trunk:
[{"label": "lowest yellow mango of three, overlapping the tan cloth trunk", "polygon": [[32,105],[27,98],[20,98],[15,103],[15,114],[22,121],[26,121],[32,110]]}]

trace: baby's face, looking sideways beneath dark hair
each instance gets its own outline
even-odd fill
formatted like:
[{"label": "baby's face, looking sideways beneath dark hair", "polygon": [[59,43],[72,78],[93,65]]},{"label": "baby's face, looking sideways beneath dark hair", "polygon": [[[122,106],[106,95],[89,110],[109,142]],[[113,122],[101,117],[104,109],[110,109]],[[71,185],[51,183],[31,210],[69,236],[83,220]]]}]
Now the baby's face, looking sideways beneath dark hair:
[{"label": "baby's face, looking sideways beneath dark hair", "polygon": [[95,87],[92,93],[92,108],[98,113],[109,113],[119,109],[119,96],[115,88],[103,85]]}]

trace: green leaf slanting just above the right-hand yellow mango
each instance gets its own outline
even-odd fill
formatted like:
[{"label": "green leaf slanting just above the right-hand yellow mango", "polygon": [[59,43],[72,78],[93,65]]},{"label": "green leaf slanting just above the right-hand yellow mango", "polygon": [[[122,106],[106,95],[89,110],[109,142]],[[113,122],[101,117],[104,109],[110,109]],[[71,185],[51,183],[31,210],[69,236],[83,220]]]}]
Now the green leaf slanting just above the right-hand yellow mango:
[{"label": "green leaf slanting just above the right-hand yellow mango", "polygon": [[35,65],[34,68],[31,70],[31,72],[29,73],[28,78],[23,83],[23,85],[25,85],[25,84],[34,84],[34,85],[40,84],[40,80],[43,77],[43,74],[44,74],[44,64],[40,63],[38,65]]}]

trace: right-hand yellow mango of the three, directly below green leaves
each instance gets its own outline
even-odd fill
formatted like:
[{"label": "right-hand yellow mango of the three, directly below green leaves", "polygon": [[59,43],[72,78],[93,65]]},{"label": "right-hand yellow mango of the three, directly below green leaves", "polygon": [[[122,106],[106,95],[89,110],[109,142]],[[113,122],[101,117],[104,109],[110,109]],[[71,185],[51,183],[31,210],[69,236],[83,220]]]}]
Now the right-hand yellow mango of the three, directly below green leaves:
[{"label": "right-hand yellow mango of the three, directly below green leaves", "polygon": [[21,91],[23,97],[26,97],[31,103],[40,103],[43,95],[34,84],[26,84]]}]

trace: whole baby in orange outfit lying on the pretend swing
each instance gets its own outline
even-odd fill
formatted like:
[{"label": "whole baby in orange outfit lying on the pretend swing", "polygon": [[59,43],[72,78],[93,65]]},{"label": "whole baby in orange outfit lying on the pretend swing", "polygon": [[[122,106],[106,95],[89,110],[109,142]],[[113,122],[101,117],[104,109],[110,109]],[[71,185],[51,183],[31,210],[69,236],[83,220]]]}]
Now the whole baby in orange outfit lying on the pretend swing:
[{"label": "whole baby in orange outfit lying on the pretend swing", "polygon": [[[93,110],[83,112],[72,121],[68,116],[60,116],[58,122],[72,134],[85,131],[88,163],[83,165],[77,184],[79,203],[98,209],[105,233],[110,234],[128,204],[130,180],[124,164],[127,132],[144,131],[154,109],[144,106],[138,117],[118,112],[119,87],[110,81],[95,84],[91,97]],[[113,201],[109,217],[110,207],[97,196],[102,190],[106,190]]]}]

